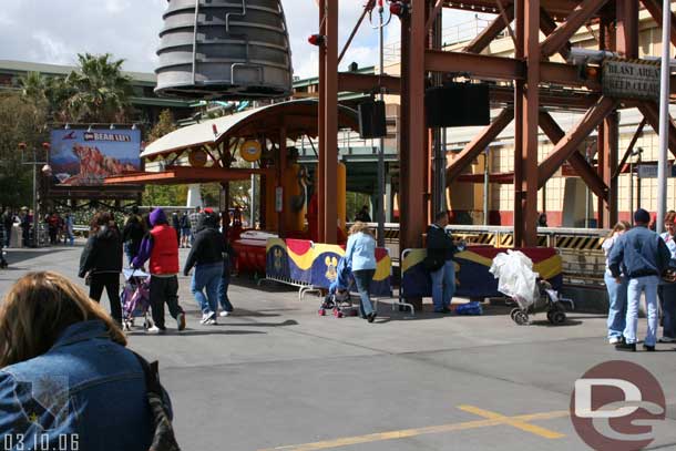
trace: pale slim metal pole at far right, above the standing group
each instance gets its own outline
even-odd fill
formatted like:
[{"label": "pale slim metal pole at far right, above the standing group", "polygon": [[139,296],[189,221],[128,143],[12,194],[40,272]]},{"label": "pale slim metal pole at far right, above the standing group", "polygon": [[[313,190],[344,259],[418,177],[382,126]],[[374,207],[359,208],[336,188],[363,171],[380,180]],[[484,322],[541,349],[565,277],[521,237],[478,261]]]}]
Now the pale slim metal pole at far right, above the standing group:
[{"label": "pale slim metal pole at far right, above the standing group", "polygon": [[669,140],[669,49],[672,31],[672,1],[662,3],[662,73],[659,92],[659,160],[657,161],[657,223],[655,229],[664,229],[664,216],[667,206],[667,151]]}]

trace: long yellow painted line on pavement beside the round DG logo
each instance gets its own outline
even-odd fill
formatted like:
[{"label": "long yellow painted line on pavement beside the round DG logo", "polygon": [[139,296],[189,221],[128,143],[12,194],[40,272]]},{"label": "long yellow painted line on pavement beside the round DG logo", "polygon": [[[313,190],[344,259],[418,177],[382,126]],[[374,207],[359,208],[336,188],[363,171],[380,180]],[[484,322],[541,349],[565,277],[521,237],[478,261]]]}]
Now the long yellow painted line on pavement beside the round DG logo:
[{"label": "long yellow painted line on pavement beside the round DG logo", "polygon": [[[468,406],[462,406],[468,407]],[[462,409],[464,410],[464,409]],[[482,410],[483,413],[489,413]],[[471,412],[475,413],[475,412]],[[490,412],[492,413],[492,412]],[[289,444],[285,447],[276,447],[276,448],[265,448],[258,451],[315,451],[315,450],[327,450],[331,448],[339,447],[349,447],[352,444],[360,443],[372,443],[386,440],[397,440],[397,439],[406,439],[410,437],[424,435],[430,433],[442,433],[442,432],[453,432],[453,431],[464,431],[468,429],[479,429],[479,428],[488,428],[492,426],[502,426],[502,424],[526,424],[529,421],[535,420],[551,420],[555,418],[564,418],[569,417],[570,412],[567,410],[556,410],[552,412],[541,412],[541,413],[532,413],[532,414],[523,414],[518,417],[504,417],[499,413],[492,413],[498,416],[499,418],[490,418],[484,420],[473,420],[465,421],[461,423],[450,423],[450,424],[440,424],[440,426],[429,426],[424,428],[413,428],[413,429],[402,429],[399,431],[389,431],[389,432],[379,432],[379,433],[370,433],[366,435],[356,435],[356,437],[345,437],[340,439],[325,440],[313,443],[303,443],[303,444]],[[510,423],[510,421],[514,422],[514,424]],[[529,424],[532,426],[532,424]],[[547,431],[547,430],[545,430]],[[551,434],[555,434],[556,432],[547,431]],[[559,434],[560,437],[564,437]],[[560,437],[547,437],[547,438],[560,438]]]}]

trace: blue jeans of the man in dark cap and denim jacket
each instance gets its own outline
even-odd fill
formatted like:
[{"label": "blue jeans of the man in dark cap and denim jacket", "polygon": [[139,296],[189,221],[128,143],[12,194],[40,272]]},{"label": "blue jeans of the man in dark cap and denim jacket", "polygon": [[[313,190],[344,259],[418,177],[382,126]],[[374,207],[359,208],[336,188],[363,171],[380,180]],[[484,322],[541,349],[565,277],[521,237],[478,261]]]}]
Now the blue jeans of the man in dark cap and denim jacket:
[{"label": "blue jeans of the man in dark cap and denim jacket", "polygon": [[641,293],[645,291],[645,303],[648,314],[648,331],[644,345],[655,346],[657,341],[657,285],[659,277],[646,276],[629,279],[627,290],[627,325],[624,329],[624,338],[627,344],[636,342],[636,329],[638,327],[638,304],[641,304]]}]

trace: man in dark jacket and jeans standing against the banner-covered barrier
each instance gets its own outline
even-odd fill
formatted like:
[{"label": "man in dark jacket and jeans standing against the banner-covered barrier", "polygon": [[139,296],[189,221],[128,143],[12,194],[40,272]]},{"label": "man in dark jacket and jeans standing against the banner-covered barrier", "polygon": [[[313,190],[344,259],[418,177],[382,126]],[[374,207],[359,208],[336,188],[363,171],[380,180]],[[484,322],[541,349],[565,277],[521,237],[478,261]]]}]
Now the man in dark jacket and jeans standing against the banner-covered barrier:
[{"label": "man in dark jacket and jeans standing against the banner-covered barrier", "polygon": [[455,293],[455,266],[453,255],[457,243],[444,227],[449,224],[449,212],[438,213],[427,232],[427,257],[424,266],[432,278],[434,312],[448,314]]}]

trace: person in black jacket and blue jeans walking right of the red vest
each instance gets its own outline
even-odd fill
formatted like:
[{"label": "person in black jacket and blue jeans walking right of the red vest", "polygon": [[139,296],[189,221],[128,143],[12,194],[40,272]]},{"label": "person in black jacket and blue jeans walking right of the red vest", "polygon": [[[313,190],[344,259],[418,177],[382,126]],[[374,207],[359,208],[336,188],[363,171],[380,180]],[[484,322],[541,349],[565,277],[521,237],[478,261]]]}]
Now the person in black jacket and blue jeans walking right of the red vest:
[{"label": "person in black jacket and blue jeans walking right of the red vest", "polygon": [[217,324],[218,285],[223,276],[224,252],[225,243],[218,232],[218,217],[214,213],[207,213],[197,225],[195,242],[183,268],[183,275],[187,276],[195,266],[191,291],[202,309],[203,325]]}]

